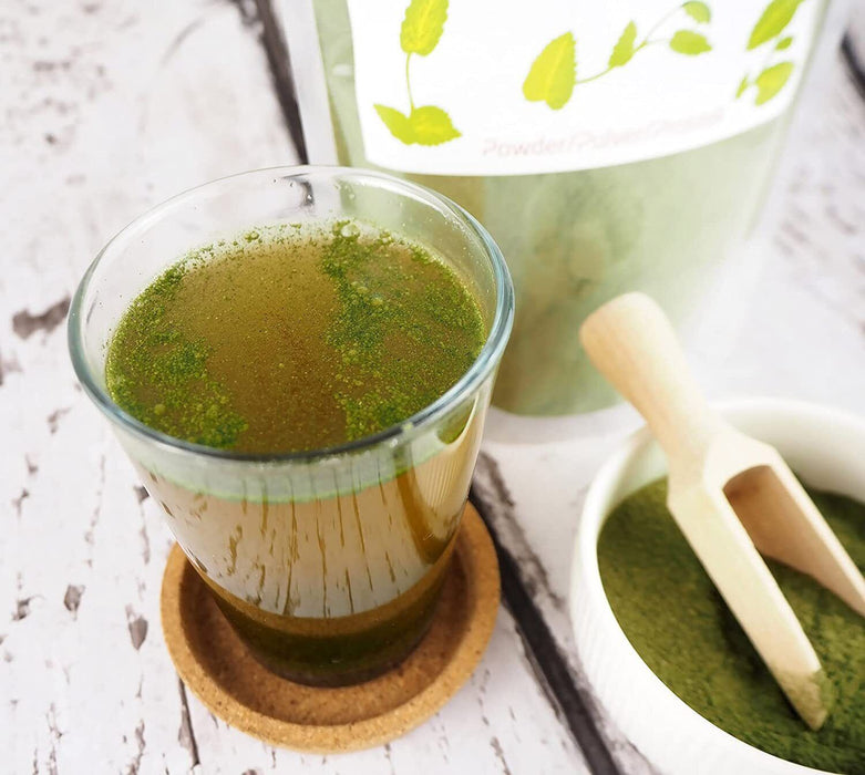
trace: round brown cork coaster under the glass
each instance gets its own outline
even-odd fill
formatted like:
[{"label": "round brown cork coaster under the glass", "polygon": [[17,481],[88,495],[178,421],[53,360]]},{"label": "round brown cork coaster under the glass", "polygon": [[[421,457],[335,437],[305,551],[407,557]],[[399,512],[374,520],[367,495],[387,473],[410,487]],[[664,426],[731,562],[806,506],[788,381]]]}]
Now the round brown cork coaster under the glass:
[{"label": "round brown cork coaster under the glass", "polygon": [[313,753],[380,745],[432,716],[468,680],[493,632],[500,578],[486,527],[465,507],[435,617],[397,668],[352,686],[275,675],[249,653],[178,546],[162,586],[162,626],[183,682],[219,719],[267,743]]}]

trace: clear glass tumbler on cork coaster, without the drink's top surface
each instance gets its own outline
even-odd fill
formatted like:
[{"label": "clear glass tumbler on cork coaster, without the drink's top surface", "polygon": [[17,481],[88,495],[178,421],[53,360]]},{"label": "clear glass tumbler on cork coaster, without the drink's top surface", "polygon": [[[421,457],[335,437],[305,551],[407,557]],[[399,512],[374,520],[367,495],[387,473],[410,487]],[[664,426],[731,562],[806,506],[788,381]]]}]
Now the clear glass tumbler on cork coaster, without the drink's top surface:
[{"label": "clear glass tumbler on cork coaster, without the drink's top surface", "polygon": [[[173,438],[112,401],[112,333],[186,251],[274,223],[341,218],[431,247],[474,294],[486,342],[435,402],[336,447],[248,455]],[[81,384],[247,647],[280,675],[339,685],[404,659],[432,620],[513,303],[498,248],[449,199],[379,173],[285,167],[194,188],[130,224],[81,281],[69,344]]]}]

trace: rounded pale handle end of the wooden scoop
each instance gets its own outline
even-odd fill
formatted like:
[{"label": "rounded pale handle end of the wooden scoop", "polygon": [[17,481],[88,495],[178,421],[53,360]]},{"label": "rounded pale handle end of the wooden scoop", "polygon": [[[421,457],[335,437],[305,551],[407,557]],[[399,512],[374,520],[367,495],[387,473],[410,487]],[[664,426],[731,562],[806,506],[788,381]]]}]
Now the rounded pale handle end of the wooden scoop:
[{"label": "rounded pale handle end of the wooden scoop", "polygon": [[646,418],[670,464],[700,461],[723,421],[694,381],[669,319],[645,293],[593,312],[579,338],[591,362]]}]

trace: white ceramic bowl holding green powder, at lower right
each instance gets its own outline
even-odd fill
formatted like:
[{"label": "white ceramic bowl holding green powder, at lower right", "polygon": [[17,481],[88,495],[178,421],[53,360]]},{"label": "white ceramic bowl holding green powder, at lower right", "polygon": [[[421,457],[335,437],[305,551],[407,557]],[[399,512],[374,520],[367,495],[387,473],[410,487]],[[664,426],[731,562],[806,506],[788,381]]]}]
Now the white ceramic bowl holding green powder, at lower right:
[{"label": "white ceramic bowl holding green powder, at lower right", "polygon": [[[865,418],[775,399],[728,402],[718,409],[745,433],[778,447],[805,484],[865,502]],[[586,496],[571,570],[570,616],[595,696],[663,773],[822,772],[763,753],[692,711],[649,670],[616,621],[598,570],[600,528],[622,498],[666,473],[663,454],[642,428],[607,459]]]}]

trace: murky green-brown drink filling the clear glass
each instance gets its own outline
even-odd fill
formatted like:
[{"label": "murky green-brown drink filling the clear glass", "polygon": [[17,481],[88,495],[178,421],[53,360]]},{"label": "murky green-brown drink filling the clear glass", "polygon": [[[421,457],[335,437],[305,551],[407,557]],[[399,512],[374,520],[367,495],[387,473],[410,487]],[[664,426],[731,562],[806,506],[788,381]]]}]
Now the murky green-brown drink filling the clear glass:
[{"label": "murky green-brown drink filling the clear glass", "polygon": [[[393,465],[274,477],[267,456],[344,446],[434,402],[487,333],[426,247],[353,221],[257,228],[194,250],[130,306],[105,379],[169,436],[262,458],[241,497],[138,463],[178,541],[258,658],[342,683],[399,661],[430,622],[480,443],[476,401]],[[135,456],[133,455],[135,458]],[[300,459],[299,466],[302,466]],[[328,478],[330,477],[330,478]]]}]

